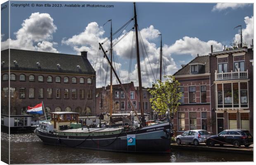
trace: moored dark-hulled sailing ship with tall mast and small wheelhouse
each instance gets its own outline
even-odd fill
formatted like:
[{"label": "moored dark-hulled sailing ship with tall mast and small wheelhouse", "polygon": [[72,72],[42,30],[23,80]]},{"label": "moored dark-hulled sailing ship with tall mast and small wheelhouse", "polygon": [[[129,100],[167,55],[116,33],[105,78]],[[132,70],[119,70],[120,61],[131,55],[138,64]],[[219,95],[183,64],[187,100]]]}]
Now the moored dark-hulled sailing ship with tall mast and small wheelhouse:
[{"label": "moored dark-hulled sailing ship with tall mast and small wheelhouse", "polygon": [[[133,19],[135,21],[140,101],[143,102],[135,3]],[[116,76],[116,79],[126,94],[126,97],[128,98],[134,113],[137,115],[137,112],[135,111],[129,96],[126,93],[126,90],[124,89],[114,67],[112,66],[112,60],[109,60],[107,57],[102,44],[99,43],[99,45],[104,54],[104,57],[109,63],[111,71],[113,71],[114,75]],[[140,127],[135,127],[134,125],[123,125],[123,127],[115,127],[114,124],[110,123],[110,125],[104,128],[83,127],[81,123],[78,123],[78,113],[75,112],[52,112],[51,120],[41,121],[39,127],[37,127],[34,132],[45,144],[51,145],[91,148],[105,151],[170,153],[171,132],[173,128],[172,123],[168,120],[164,123],[145,126],[143,104],[140,106],[140,111]]]}]

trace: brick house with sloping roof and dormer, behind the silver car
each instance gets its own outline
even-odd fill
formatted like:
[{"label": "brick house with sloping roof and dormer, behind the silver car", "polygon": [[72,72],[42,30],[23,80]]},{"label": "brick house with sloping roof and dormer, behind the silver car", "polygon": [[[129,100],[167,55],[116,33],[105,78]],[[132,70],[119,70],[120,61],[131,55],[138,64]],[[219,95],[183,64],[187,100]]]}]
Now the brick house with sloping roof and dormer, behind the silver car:
[{"label": "brick house with sloping roof and dormer, behind the silver car", "polygon": [[186,130],[204,129],[211,132],[210,56],[197,56],[173,74],[182,92],[173,123],[177,134]]}]

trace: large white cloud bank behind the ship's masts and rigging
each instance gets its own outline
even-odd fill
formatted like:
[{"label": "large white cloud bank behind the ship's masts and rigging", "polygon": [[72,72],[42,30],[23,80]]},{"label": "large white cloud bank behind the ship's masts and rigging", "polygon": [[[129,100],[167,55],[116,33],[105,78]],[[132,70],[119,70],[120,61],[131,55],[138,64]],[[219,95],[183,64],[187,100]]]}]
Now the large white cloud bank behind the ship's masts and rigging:
[{"label": "large white cloud bank behind the ship's masts and rigging", "polygon": [[[85,28],[85,30],[82,33],[79,33],[78,35],[73,35],[71,38],[64,38],[62,40],[63,44],[70,45],[73,47],[73,50],[78,52],[81,51],[88,51],[88,59],[90,60],[91,64],[95,64],[96,56],[98,53],[99,49],[99,42],[104,41],[107,38],[104,38],[105,31],[103,30],[102,27],[99,27],[96,22],[91,22],[88,24],[88,26]],[[159,40],[159,31],[157,29],[154,29],[154,26],[149,26],[148,28],[143,28],[140,31],[143,42],[145,44],[145,48],[147,50],[147,54],[149,57],[150,64],[152,66],[152,70],[154,74],[156,74],[157,71],[157,66],[158,66],[158,58],[159,58],[159,51],[160,49],[156,47],[156,45],[153,42],[149,42],[150,40]],[[116,40],[119,40],[120,38],[123,37],[123,35],[126,34],[126,31],[123,31],[122,35],[119,36]],[[133,40],[133,32],[129,33],[125,38],[123,38],[118,44],[115,45],[114,50],[116,51],[116,54],[119,56],[118,58],[123,58],[123,59],[129,59],[130,58],[130,51],[131,51],[131,46],[132,46],[132,40]],[[114,40],[115,41],[115,40]],[[114,42],[115,43],[115,42]],[[104,43],[104,49],[108,50],[109,49],[109,41]],[[136,59],[135,55],[135,49],[133,49],[133,59]],[[141,51],[141,50],[140,50]],[[101,52],[101,51],[100,51]],[[143,86],[149,86],[148,85],[148,80],[147,80],[147,73],[146,73],[146,68],[145,68],[145,63],[147,66],[147,71],[149,74],[149,82],[154,82],[154,76],[152,74],[151,68],[149,66],[149,61],[146,58],[145,63],[142,59],[143,54],[142,51],[140,52],[140,65],[141,65],[141,73],[142,73],[142,85]],[[146,57],[146,54],[145,54]],[[106,61],[106,60],[105,60]],[[166,57],[164,57],[164,61],[166,64],[166,74],[172,74],[177,70],[177,66],[175,64],[175,61],[172,59],[171,54],[166,54]],[[97,61],[99,62],[99,61]],[[127,62],[127,61],[126,61]],[[123,61],[122,63],[125,63]],[[105,63],[104,63],[105,65]],[[121,64],[116,64],[121,68]],[[106,66],[106,65],[105,65]],[[100,64],[96,64],[95,70],[96,72],[98,69],[103,69],[106,73],[106,68],[102,68]],[[137,64],[132,66],[132,71],[130,74],[130,81],[134,81],[135,85],[137,84]],[[115,69],[117,70],[117,69]],[[123,70],[121,68],[121,80],[123,80],[123,83],[126,83],[128,81],[128,71]],[[102,75],[99,73],[97,75],[97,82],[100,83],[102,80]],[[115,82],[115,81],[114,81]],[[107,84],[109,84],[109,81],[107,81]],[[99,87],[100,84],[97,84],[97,87]]]}]

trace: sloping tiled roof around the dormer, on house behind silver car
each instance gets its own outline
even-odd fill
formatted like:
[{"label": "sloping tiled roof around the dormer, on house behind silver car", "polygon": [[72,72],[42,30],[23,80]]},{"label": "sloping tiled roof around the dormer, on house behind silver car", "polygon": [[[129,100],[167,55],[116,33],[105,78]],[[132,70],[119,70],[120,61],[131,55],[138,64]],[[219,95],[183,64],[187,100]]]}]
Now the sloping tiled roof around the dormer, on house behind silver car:
[{"label": "sloping tiled roof around the dormer, on house behind silver car", "polygon": [[[190,66],[192,64],[204,64],[202,65],[201,69],[198,71],[198,73],[191,73],[190,72]],[[177,72],[175,72],[173,75],[194,75],[194,74],[204,74],[204,73],[210,73],[210,56],[197,56],[192,61],[190,61],[188,64],[180,68]]]}]

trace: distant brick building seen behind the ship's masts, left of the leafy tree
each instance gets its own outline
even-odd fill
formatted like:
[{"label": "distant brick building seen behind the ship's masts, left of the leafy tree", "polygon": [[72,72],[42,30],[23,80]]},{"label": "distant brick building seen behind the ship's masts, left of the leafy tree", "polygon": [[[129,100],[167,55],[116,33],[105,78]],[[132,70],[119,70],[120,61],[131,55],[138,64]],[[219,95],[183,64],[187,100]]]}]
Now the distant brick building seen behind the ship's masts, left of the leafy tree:
[{"label": "distant brick building seen behind the ship's masts, left of the leafy tree", "polygon": [[[133,106],[140,113],[140,97],[138,92],[138,87],[134,87],[133,82],[123,84],[123,87],[126,89]],[[130,113],[132,110],[128,99],[121,89],[120,85],[112,85],[113,88],[113,113]],[[142,89],[143,93],[143,104],[144,104],[144,113],[151,112],[151,106],[149,102],[150,94],[147,91],[147,88]],[[110,86],[101,87],[96,89],[96,114],[99,115],[103,112],[109,112],[109,101],[110,101]]]}]

